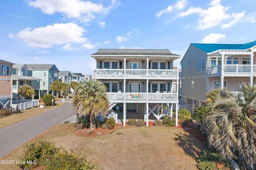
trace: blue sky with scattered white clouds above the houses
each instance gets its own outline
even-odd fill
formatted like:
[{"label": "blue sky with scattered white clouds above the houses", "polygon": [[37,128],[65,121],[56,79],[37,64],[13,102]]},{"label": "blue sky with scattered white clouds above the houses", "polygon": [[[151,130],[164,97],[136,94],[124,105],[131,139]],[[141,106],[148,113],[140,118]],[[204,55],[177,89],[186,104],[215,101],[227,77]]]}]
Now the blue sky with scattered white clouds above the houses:
[{"label": "blue sky with scattered white clouds above the houses", "polygon": [[255,0],[12,0],[0,9],[0,59],[82,74],[99,48],[183,56],[190,43],[256,40]]}]

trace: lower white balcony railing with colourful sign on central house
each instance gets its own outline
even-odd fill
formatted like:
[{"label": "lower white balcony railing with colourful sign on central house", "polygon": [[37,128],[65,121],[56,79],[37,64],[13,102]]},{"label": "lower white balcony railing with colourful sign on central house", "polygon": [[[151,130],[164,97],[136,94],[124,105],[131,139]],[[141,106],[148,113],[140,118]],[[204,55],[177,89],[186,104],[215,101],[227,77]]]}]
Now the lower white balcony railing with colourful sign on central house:
[{"label": "lower white balcony railing with colourful sign on central house", "polygon": [[177,96],[177,93],[107,93],[108,100],[178,100]]}]

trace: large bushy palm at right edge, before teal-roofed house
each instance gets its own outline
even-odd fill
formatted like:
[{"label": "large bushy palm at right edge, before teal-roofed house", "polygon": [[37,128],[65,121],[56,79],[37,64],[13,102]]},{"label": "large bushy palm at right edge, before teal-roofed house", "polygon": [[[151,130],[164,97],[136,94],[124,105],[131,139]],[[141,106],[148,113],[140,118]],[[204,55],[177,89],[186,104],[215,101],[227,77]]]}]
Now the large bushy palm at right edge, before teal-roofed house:
[{"label": "large bushy palm at right edge, before teal-roofed house", "polygon": [[244,84],[243,94],[234,96],[226,89],[209,94],[202,131],[208,142],[227,158],[238,161],[241,169],[256,169],[256,86]]}]

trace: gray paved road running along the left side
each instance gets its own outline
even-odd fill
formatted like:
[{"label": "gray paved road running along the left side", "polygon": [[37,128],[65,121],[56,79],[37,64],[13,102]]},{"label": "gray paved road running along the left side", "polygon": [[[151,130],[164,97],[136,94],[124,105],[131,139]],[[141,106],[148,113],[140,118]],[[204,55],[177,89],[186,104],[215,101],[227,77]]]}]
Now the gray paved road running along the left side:
[{"label": "gray paved road running along the left side", "polygon": [[0,129],[0,157],[72,115],[72,102],[66,101],[66,104],[56,109]]}]

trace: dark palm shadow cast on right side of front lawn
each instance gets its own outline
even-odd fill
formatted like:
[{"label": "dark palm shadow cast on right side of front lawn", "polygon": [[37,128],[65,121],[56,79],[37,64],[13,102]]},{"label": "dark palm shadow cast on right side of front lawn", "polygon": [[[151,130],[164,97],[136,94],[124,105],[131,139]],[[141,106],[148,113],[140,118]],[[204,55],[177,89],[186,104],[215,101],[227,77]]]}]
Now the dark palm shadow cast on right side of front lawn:
[{"label": "dark palm shadow cast on right side of front lawn", "polygon": [[176,134],[177,137],[174,139],[186,154],[197,159],[198,156],[200,156],[200,152],[208,147],[207,139],[202,135],[198,126],[183,125],[182,129],[184,129],[186,133],[178,133]]}]

